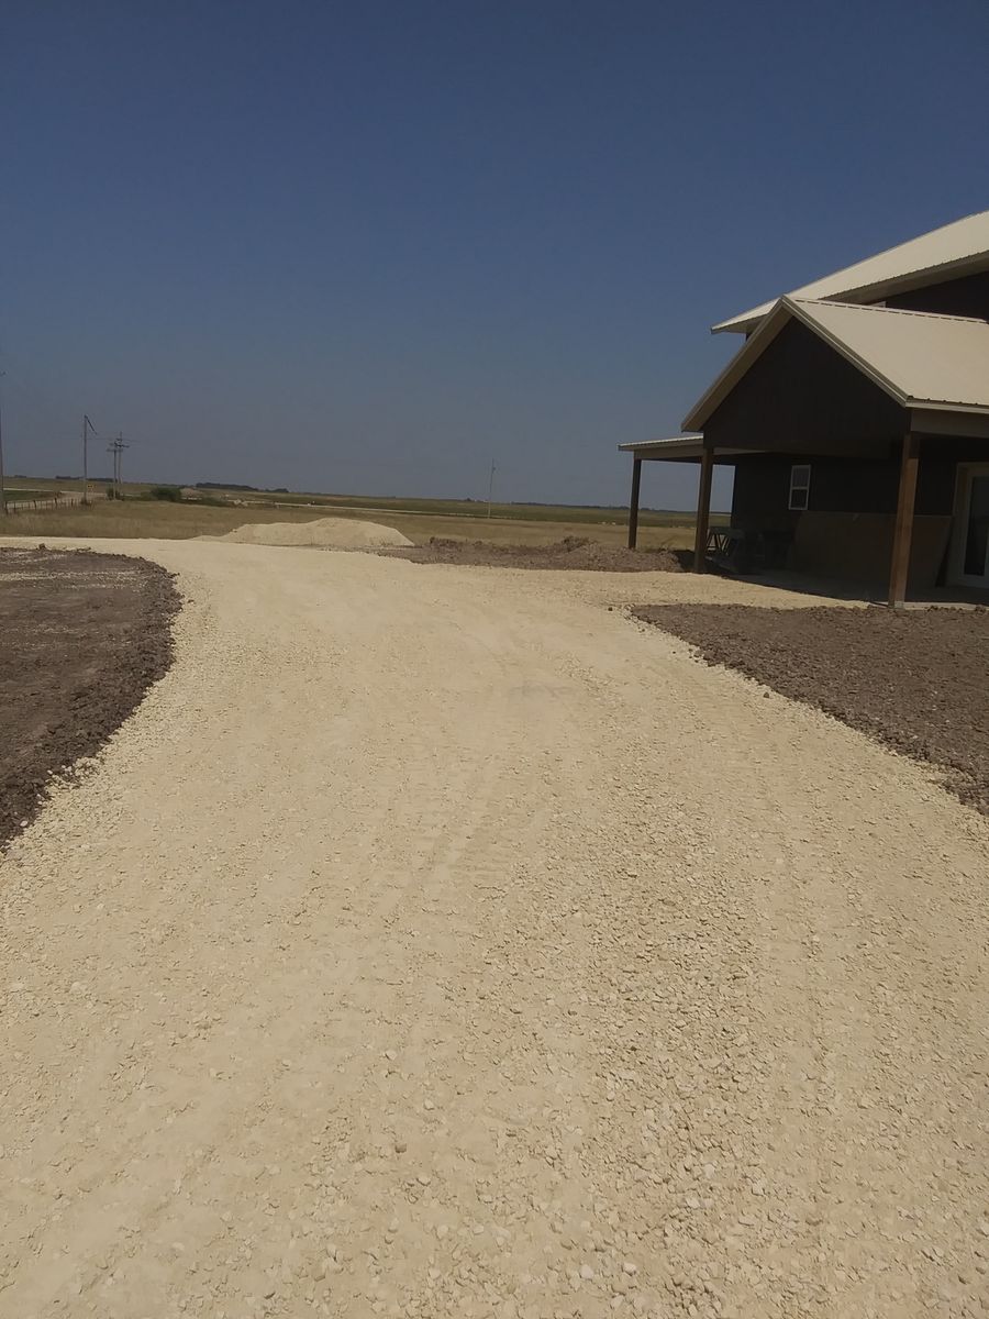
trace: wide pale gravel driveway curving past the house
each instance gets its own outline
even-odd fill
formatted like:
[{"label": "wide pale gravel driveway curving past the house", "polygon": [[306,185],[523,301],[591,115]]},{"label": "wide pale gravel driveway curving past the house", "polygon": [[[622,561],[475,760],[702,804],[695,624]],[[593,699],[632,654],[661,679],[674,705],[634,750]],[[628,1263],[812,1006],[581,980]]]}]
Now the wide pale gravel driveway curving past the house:
[{"label": "wide pale gravel driveway curving past the house", "polygon": [[0,1314],[981,1315],[989,827],[607,600],[121,545],[178,660],[0,868]]}]

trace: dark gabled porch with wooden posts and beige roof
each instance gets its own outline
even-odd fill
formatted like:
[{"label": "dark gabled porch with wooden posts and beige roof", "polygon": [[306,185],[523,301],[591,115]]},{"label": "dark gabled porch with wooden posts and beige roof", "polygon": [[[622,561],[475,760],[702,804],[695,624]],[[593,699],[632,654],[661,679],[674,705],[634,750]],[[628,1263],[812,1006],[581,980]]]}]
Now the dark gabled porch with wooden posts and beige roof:
[{"label": "dark gabled porch with wooden posts and beige roof", "polygon": [[[699,468],[694,570],[732,543],[785,547],[766,566],[989,590],[989,324],[782,299],[686,419],[632,454],[629,546],[644,462]],[[711,534],[717,464],[734,468],[732,530]],[[712,543],[713,542],[713,543]]]}]

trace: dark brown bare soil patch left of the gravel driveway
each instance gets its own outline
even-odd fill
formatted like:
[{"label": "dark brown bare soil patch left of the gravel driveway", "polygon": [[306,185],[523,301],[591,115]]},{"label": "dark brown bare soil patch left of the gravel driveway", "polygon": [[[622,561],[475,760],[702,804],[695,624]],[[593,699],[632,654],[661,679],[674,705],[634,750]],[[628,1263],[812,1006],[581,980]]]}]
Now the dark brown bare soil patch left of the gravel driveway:
[{"label": "dark brown bare soil patch left of the gravel driveway", "polygon": [[0,550],[0,594],[3,843],[166,673],[181,601],[157,563],[84,550]]}]

